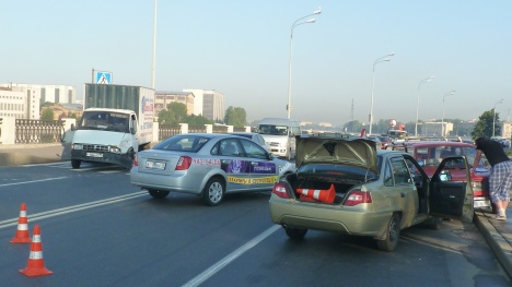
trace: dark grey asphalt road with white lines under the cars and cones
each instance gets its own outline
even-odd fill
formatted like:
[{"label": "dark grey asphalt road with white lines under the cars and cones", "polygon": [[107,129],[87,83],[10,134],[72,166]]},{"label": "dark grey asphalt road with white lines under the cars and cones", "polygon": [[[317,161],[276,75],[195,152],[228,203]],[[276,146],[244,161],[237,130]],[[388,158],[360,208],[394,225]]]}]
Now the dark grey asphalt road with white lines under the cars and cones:
[{"label": "dark grey asphalt road with white lines under the cars and cones", "polygon": [[[127,170],[90,167],[0,167],[1,286],[512,286],[473,224],[406,229],[392,253],[319,231],[296,242],[270,223],[269,192],[216,207],[179,193],[159,201]],[[51,275],[18,272],[30,255],[10,243],[21,203]]]}]

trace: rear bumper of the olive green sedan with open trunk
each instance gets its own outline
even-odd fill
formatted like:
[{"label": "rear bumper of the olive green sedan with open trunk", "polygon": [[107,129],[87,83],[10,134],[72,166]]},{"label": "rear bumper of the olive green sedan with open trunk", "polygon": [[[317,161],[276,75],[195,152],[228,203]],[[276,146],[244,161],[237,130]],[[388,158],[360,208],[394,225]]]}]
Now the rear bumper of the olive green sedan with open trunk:
[{"label": "rear bumper of the olive green sedan with open trunk", "polygon": [[269,202],[270,217],[275,224],[375,238],[382,236],[393,214],[354,211],[351,207],[284,200],[275,194]]}]

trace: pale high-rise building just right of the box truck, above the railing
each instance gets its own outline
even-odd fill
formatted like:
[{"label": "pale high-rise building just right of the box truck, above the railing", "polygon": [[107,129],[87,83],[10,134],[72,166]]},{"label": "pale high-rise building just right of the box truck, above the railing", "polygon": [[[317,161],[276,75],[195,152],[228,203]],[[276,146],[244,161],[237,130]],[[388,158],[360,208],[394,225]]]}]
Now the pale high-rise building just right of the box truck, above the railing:
[{"label": "pale high-rise building just right of the box truck, above the railing", "polygon": [[224,121],[224,95],[214,89],[191,89],[186,88],[183,92],[194,94],[194,115],[202,116],[214,122]]}]

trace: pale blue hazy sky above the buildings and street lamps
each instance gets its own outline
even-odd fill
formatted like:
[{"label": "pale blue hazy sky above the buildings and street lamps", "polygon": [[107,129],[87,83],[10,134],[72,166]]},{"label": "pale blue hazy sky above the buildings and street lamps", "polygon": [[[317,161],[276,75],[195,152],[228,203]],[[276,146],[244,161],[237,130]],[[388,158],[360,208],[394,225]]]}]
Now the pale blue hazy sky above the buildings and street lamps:
[{"label": "pale blue hazy sky above the buildings and street lamps", "polygon": [[[71,85],[80,99],[96,70],[151,87],[154,3],[0,0],[0,83]],[[374,122],[493,107],[512,119],[511,11],[510,0],[160,0],[154,87],[216,89],[249,122],[286,118],[290,82],[301,121],[368,123],[372,95]],[[302,17],[315,22],[292,28]]]}]

